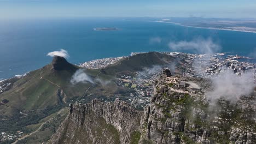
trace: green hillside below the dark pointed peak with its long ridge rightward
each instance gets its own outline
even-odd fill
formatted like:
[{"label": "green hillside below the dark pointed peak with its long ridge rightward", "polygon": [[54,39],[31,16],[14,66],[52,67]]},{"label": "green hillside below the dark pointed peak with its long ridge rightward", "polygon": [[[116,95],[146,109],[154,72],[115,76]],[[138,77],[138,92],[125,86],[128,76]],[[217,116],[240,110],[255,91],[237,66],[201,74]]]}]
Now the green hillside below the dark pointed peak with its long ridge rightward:
[{"label": "green hillside below the dark pointed peak with its long ridge rightward", "polygon": [[[64,63],[59,63],[64,62]],[[117,86],[117,76],[150,68],[154,65],[168,65],[175,62],[172,56],[157,52],[142,53],[110,65],[104,69],[83,69],[91,77],[93,83],[71,83],[72,76],[78,69],[63,59],[55,59],[55,63],[31,71],[26,76],[16,79],[8,91],[0,94],[0,131],[24,134],[32,133],[28,125],[37,125],[49,115],[56,113],[73,101],[85,99],[114,99],[115,95],[129,97],[132,88]],[[54,61],[53,61],[54,62]],[[56,65],[56,67],[54,66]]]}]

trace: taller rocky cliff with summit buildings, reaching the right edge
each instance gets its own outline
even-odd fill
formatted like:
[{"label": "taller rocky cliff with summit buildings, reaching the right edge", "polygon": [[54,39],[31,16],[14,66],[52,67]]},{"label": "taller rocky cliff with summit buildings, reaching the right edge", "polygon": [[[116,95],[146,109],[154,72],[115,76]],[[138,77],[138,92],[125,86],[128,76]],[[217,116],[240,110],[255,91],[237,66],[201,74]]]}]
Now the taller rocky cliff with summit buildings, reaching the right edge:
[{"label": "taller rocky cliff with summit buildings, reaching the right edge", "polygon": [[255,107],[225,100],[209,105],[202,94],[172,85],[166,77],[156,81],[139,143],[256,143]]}]

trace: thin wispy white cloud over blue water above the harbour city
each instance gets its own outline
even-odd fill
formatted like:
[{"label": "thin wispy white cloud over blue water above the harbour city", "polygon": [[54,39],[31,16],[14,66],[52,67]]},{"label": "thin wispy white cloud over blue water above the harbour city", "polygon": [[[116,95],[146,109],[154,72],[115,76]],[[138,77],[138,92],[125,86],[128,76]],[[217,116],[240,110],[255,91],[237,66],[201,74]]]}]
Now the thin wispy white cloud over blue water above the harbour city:
[{"label": "thin wispy white cloud over blue water above the harbour city", "polygon": [[221,46],[213,43],[212,39],[210,38],[197,38],[192,41],[171,42],[168,44],[168,46],[173,51],[190,50],[202,54],[212,54],[214,52],[218,52],[221,49]]}]

